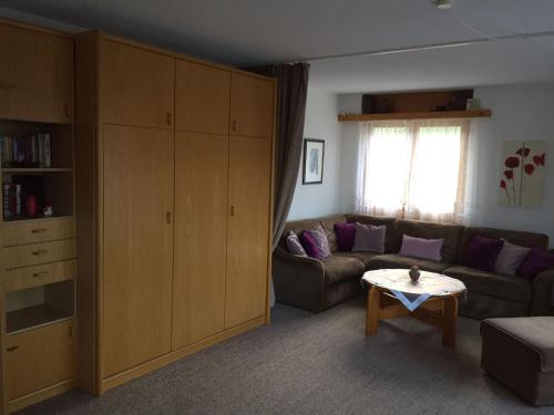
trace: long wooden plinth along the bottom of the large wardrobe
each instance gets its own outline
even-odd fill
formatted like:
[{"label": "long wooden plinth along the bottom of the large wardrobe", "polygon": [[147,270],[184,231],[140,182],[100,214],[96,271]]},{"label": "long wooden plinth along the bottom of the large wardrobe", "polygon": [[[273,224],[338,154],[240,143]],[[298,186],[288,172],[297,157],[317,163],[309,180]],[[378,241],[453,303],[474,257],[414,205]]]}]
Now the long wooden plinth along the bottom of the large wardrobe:
[{"label": "long wooden plinth along the bottom of the large wardrobe", "polygon": [[129,369],[124,372],[106,377],[102,381],[101,394],[107,390],[111,390],[112,387],[122,385],[123,383],[129,382],[133,378],[141,377],[146,373],[153,372],[160,367],[163,367],[189,354],[196,353],[203,349],[209,347],[211,345],[223,342],[224,340],[227,340],[237,334],[244,333],[246,331],[249,331],[252,329],[255,329],[264,324],[266,324],[266,315],[258,317],[254,320],[247,321],[246,323],[236,325],[220,333],[201,340],[199,342],[174,350],[173,352],[164,354],[163,356],[156,357],[150,362],[140,364],[138,366]]}]

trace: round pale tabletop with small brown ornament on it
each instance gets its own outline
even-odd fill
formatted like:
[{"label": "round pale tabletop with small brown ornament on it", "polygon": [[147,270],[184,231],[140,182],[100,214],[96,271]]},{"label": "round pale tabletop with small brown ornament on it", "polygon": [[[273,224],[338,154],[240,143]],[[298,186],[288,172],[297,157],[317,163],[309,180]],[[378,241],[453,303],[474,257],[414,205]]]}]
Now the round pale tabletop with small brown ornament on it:
[{"label": "round pale tabletop with small brown ornament on it", "polygon": [[420,271],[421,276],[413,282],[408,269],[381,269],[368,271],[362,280],[371,286],[386,290],[396,290],[409,294],[430,294],[431,297],[456,295],[465,291],[465,284],[455,278],[435,272]]}]

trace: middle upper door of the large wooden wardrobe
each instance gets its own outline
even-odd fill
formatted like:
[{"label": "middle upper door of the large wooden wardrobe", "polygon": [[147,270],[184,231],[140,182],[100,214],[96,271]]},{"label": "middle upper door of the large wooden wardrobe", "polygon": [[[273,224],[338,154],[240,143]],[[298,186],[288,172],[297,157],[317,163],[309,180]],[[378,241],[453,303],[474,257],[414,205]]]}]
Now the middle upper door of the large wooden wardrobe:
[{"label": "middle upper door of the large wooden wardrobe", "polygon": [[175,128],[227,134],[229,86],[229,71],[177,60]]}]

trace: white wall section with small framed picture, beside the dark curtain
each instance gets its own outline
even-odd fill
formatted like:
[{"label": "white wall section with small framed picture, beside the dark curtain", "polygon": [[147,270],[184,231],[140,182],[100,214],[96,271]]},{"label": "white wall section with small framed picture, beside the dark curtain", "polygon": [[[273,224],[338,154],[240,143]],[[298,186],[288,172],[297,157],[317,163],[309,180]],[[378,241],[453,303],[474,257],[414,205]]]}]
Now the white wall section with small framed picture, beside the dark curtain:
[{"label": "white wall section with small framed picture, beside the dark curtain", "polygon": [[336,94],[308,87],[304,137],[325,139],[324,183],[302,185],[300,162],[288,220],[314,218],[339,211],[340,134],[337,114]]}]

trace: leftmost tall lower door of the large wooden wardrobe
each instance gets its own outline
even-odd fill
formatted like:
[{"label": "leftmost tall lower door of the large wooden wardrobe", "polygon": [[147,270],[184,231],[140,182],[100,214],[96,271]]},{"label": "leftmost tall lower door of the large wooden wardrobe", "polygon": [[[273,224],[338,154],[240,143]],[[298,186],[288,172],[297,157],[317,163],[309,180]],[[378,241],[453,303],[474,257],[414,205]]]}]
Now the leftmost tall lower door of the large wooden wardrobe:
[{"label": "leftmost tall lower door of the large wooden wardrobe", "polygon": [[171,350],[173,132],[103,126],[103,376]]}]

